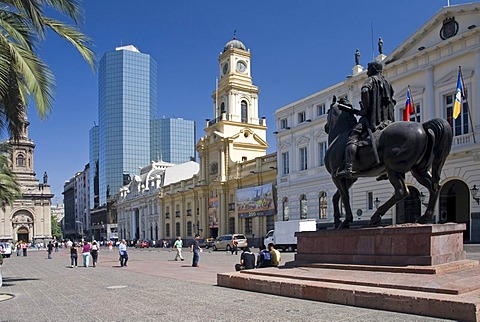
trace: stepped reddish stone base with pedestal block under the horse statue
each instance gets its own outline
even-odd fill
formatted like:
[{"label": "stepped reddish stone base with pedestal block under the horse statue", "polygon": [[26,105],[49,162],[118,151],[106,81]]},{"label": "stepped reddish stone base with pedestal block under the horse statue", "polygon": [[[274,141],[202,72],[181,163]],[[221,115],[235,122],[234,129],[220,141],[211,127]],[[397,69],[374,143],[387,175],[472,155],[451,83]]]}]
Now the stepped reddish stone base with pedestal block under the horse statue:
[{"label": "stepped reddish stone base with pedestal block under the horse statue", "polygon": [[220,286],[321,302],[480,320],[480,266],[464,224],[297,233],[295,261],[217,275]]}]

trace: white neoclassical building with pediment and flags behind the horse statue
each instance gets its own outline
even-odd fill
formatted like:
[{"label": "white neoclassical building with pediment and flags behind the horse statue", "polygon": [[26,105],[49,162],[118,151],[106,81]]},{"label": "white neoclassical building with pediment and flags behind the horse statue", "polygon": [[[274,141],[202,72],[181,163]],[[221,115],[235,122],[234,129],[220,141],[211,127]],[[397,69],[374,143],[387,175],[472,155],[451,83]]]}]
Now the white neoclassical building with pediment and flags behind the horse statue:
[{"label": "white neoclassical building with pediment and flags behind the horse statue", "polygon": [[[464,236],[470,241],[480,241],[480,194],[475,195],[480,188],[479,12],[480,3],[444,7],[393,52],[376,58],[395,89],[396,120],[402,120],[410,87],[415,106],[411,121],[440,117],[452,125],[453,146],[441,177],[435,221],[466,223]],[[470,108],[464,100],[460,116],[454,119],[459,66]],[[279,220],[315,218],[319,226],[332,225],[331,197],[336,188],[323,163],[326,113],[333,95],[347,97],[359,108],[365,69],[354,66],[343,82],[276,110]],[[428,191],[410,174],[406,181],[410,196],[384,216],[386,222],[413,222],[425,210]],[[352,209],[358,214],[355,220],[367,222],[375,212],[375,201],[386,201],[392,193],[388,181],[359,179],[350,191]]]}]

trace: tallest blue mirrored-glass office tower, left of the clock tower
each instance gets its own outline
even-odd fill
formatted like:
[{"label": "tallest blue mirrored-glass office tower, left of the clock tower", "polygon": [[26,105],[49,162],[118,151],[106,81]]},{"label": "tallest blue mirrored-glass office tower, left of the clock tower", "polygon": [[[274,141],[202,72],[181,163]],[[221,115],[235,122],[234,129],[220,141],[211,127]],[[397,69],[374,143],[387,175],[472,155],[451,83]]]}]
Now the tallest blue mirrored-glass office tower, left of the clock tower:
[{"label": "tallest blue mirrored-glass office tower, left of the clock tower", "polygon": [[150,162],[150,120],[157,115],[157,63],[134,46],[107,52],[99,69],[99,201],[106,203]]}]

